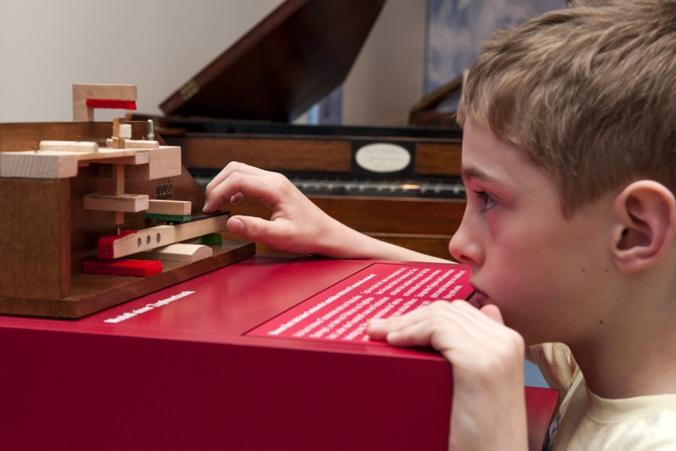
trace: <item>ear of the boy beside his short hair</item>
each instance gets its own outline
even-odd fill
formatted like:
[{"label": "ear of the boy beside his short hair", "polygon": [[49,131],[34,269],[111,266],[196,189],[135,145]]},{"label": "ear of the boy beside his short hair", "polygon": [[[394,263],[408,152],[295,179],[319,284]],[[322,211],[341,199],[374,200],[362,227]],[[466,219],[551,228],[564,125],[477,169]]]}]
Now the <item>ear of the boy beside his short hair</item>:
[{"label": "ear of the boy beside his short hair", "polygon": [[633,273],[655,264],[676,235],[676,199],[661,183],[639,180],[627,185],[614,204],[617,223],[612,250],[620,271]]}]

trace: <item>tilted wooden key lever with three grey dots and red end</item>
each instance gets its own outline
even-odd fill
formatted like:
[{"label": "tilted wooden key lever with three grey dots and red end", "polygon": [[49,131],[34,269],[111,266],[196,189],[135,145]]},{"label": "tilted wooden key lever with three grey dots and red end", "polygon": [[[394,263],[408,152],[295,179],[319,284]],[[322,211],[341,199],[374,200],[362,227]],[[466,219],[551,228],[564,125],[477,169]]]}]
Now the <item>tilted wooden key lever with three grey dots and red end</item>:
[{"label": "tilted wooden key lever with three grey dots and red end", "polygon": [[117,259],[225,230],[229,216],[229,211],[220,211],[213,215],[201,215],[193,221],[175,226],[156,226],[120,237],[101,237],[99,258]]}]

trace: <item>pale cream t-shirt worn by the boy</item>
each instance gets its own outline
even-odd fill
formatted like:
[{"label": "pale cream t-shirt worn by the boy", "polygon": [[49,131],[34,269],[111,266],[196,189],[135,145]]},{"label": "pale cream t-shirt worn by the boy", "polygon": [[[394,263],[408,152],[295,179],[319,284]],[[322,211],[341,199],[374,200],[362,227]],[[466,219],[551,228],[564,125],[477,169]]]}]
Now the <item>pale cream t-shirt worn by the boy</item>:
[{"label": "pale cream t-shirt worn by the boy", "polygon": [[565,394],[549,450],[676,450],[676,395],[607,400],[587,388],[567,346],[537,345],[531,353],[550,385]]}]

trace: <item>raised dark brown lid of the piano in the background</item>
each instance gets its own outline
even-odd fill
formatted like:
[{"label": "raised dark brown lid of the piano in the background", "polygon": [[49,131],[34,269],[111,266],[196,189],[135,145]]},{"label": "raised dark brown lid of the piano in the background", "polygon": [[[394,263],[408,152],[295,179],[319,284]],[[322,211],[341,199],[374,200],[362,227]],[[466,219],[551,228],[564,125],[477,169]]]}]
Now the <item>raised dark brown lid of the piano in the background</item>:
[{"label": "raised dark brown lid of the piano in the background", "polygon": [[344,81],[384,1],[284,1],[160,108],[176,116],[293,121]]}]

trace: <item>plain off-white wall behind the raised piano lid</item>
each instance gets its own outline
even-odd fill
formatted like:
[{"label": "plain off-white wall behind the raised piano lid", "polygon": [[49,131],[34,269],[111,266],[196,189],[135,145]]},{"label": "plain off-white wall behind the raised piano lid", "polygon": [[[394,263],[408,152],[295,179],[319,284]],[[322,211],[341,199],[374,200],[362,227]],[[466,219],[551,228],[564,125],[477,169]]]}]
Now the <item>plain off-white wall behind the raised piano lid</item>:
[{"label": "plain off-white wall behind the raised piano lid", "polygon": [[[70,121],[73,83],[158,105],[282,0],[1,0],[0,122]],[[344,123],[403,125],[423,95],[424,0],[388,0],[345,84]],[[120,113],[98,111],[97,120]]]}]

